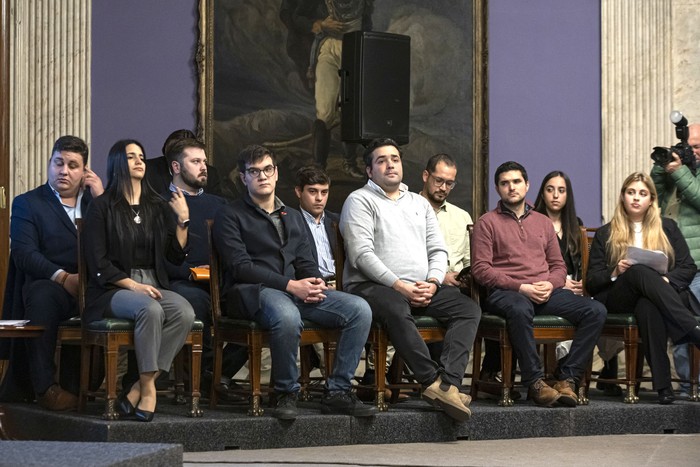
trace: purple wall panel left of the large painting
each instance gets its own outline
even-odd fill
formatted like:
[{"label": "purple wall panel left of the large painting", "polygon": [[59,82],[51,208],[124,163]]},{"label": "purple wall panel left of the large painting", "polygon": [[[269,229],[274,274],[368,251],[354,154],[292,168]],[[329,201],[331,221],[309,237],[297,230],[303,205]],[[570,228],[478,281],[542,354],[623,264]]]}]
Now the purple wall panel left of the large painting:
[{"label": "purple wall panel left of the large painting", "polygon": [[91,165],[107,182],[109,148],[140,140],[160,156],[173,130],[194,129],[197,1],[120,0],[92,5]]}]

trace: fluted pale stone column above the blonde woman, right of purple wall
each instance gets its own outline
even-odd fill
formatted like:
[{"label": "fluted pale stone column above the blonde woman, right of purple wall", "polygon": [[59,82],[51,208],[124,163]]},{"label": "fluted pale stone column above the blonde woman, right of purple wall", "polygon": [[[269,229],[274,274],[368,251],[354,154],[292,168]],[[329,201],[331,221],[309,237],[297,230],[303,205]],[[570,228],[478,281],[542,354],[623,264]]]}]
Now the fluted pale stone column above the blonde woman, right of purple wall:
[{"label": "fluted pale stone column above the blonde woman, right of purple wall", "polygon": [[604,222],[612,217],[623,180],[651,169],[652,148],[675,144],[668,118],[673,107],[671,3],[601,1]]}]

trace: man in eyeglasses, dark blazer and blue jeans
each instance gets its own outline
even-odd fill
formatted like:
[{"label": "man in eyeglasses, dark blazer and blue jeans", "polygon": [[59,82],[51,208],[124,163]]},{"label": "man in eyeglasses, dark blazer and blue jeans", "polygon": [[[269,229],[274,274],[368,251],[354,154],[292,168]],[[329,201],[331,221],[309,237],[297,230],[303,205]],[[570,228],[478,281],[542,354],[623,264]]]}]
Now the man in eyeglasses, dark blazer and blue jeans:
[{"label": "man in eyeglasses, dark blazer and blue jeans", "polygon": [[298,413],[296,356],[302,319],[340,331],[321,401],[323,412],[374,415],[376,407],[363,404],[351,383],[369,335],[369,305],[329,289],[322,279],[304,218],[275,196],[279,174],[274,154],[263,146],[248,146],[239,155],[238,169],[247,192],[219,210],[213,237],[224,266],[227,314],[255,320],[270,332],[278,395],[273,415],[290,420]]}]

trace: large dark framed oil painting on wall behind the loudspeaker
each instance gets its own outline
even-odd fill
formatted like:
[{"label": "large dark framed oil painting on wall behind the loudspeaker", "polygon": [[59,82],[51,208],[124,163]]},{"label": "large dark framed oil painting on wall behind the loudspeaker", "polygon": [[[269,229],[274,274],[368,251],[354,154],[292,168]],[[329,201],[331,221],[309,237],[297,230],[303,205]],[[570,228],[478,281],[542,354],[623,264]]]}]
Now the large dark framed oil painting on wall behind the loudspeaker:
[{"label": "large dark framed oil painting on wall behind the loudspeaker", "polygon": [[[313,73],[309,73],[309,62],[315,58],[313,35],[300,29],[304,21],[294,21],[294,15],[308,14],[322,1],[200,0],[199,131],[232,192],[241,189],[236,169],[239,151],[262,144],[278,158],[278,196],[297,206],[294,173],[313,160],[316,111]],[[480,184],[483,171],[482,157],[475,158],[474,151],[485,140],[479,134],[485,124],[476,130],[473,124],[475,100],[483,100],[482,89],[475,92],[474,70],[481,73],[483,68],[481,57],[474,60],[473,31],[476,20],[482,20],[484,1],[477,2],[478,8],[466,0],[326,3],[339,9],[364,4],[371,30],[410,36],[410,141],[402,147],[404,182],[410,190],[420,191],[427,159],[439,152],[450,154],[459,168],[450,200],[471,212],[477,201],[474,186]],[[329,208],[340,211],[347,194],[365,181],[344,170],[346,149],[339,125],[330,136]],[[361,153],[360,147],[357,164],[364,172]]]}]

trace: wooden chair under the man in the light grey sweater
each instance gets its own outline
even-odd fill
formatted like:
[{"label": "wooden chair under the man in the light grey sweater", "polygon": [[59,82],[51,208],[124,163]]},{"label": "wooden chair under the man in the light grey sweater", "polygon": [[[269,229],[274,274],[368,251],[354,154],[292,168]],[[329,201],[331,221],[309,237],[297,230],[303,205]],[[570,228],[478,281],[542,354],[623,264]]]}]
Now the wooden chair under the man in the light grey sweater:
[{"label": "wooden chair under the man in the light grey sweater", "polygon": [[[333,230],[335,231],[337,240],[336,251],[333,252],[333,258],[335,260],[336,289],[342,290],[343,268],[345,267],[345,244],[343,243],[343,235],[340,233],[340,228],[335,222],[333,223]],[[431,316],[414,316],[414,319],[418,333],[426,344],[442,342],[445,339],[446,328],[438,319]],[[385,412],[389,410],[389,404],[384,398],[386,389],[391,389],[392,402],[396,402],[398,400],[399,392],[402,389],[421,390],[421,385],[418,383],[401,382],[404,365],[401,360],[396,360],[397,358],[401,359],[401,356],[398,353],[394,355],[395,365],[392,363],[392,366],[396,369],[396,371],[390,375],[389,383],[386,383],[386,356],[390,341],[389,335],[381,323],[372,321],[372,328],[370,329],[367,342],[369,342],[375,357],[374,384],[370,387],[375,392],[374,400],[377,409]]]}]

